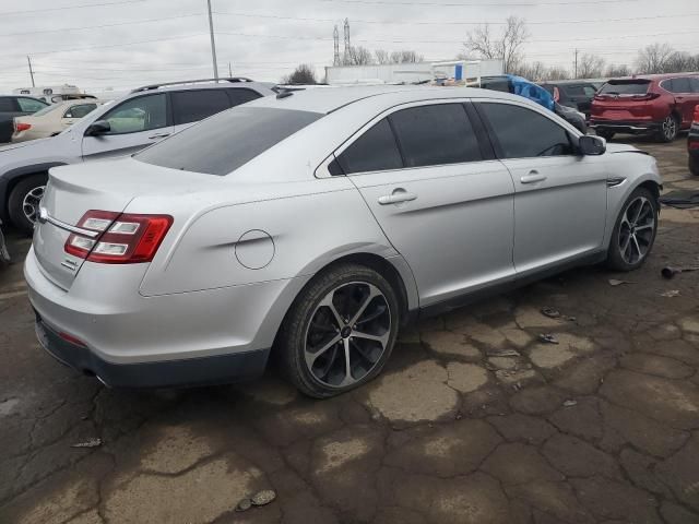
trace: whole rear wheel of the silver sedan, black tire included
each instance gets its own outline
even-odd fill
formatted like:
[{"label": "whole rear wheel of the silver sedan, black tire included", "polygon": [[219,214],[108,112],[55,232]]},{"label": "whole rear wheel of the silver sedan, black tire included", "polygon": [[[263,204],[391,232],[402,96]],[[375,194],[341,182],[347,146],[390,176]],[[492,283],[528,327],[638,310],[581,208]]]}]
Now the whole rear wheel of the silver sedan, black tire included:
[{"label": "whole rear wheel of the silver sedan, black tire included", "polygon": [[284,320],[277,341],[283,371],[308,396],[345,393],[381,372],[399,324],[399,300],[383,276],[353,263],[331,267]]}]

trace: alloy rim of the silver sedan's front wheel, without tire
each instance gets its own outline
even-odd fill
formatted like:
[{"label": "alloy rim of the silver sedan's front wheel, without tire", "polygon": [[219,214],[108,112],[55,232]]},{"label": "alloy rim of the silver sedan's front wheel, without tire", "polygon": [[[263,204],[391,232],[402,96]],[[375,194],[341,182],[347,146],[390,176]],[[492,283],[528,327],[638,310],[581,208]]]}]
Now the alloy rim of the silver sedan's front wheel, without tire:
[{"label": "alloy rim of the silver sedan's front wheel, without tire", "polygon": [[655,234],[655,210],[645,196],[626,206],[619,227],[619,253],[627,264],[638,264],[651,249]]}]

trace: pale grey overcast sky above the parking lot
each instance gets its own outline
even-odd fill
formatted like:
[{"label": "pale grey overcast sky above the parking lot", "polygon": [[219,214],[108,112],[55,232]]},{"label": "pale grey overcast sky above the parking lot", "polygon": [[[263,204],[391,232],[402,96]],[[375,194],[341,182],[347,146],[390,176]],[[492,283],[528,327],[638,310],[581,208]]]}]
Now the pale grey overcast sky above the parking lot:
[{"label": "pale grey overcast sky above the parking lot", "polygon": [[[570,68],[573,50],[631,64],[637,50],[668,43],[699,53],[699,0],[212,0],[221,74],[279,81],[297,63],[322,78],[333,26],[351,23],[353,45],[414,49],[426,59],[463,51],[473,24],[497,33],[525,19],[529,61]],[[0,0],[0,92],[75,84],[126,90],[212,76],[206,0]],[[306,20],[299,20],[306,19]],[[310,20],[309,20],[310,19]],[[636,20],[630,20],[636,19]],[[645,19],[645,20],[639,20]]]}]

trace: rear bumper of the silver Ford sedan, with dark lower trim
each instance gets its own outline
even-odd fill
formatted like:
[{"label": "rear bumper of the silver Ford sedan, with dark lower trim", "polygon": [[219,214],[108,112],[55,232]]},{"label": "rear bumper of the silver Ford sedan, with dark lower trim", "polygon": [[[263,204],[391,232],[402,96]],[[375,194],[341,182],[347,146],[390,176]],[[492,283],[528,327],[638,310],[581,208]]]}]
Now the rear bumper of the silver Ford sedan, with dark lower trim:
[{"label": "rear bumper of the silver Ford sedan, with dark lower trim", "polygon": [[[102,265],[81,270],[67,291],[44,275],[32,249],[24,274],[44,347],[114,386],[235,382],[261,374],[279,325],[307,282],[143,297],[138,284],[145,267]],[[135,282],[126,285],[128,277]]]}]

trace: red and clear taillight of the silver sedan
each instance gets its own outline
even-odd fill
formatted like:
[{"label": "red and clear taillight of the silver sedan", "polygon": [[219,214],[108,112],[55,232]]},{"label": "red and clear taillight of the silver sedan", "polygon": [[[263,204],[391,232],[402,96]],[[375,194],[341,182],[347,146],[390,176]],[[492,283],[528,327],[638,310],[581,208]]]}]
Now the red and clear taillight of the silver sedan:
[{"label": "red and clear taillight of the silver sedan", "polygon": [[95,231],[90,237],[72,233],[66,252],[103,264],[150,262],[173,225],[169,215],[133,215],[109,211],[88,211],[78,227]]}]

